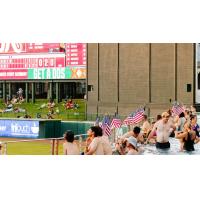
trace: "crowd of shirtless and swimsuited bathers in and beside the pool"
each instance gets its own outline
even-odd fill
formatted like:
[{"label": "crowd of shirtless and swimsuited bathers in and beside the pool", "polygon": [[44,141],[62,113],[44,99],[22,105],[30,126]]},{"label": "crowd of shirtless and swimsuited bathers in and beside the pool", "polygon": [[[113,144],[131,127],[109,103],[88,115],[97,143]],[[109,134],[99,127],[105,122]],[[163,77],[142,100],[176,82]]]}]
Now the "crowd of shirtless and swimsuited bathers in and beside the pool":
[{"label": "crowd of shirtless and swimsuited bathers in and beside the pool", "polygon": [[[189,152],[195,151],[194,145],[200,141],[200,127],[197,124],[196,110],[193,106],[190,109],[185,109],[179,115],[173,114],[172,110],[169,109],[161,115],[157,115],[156,121],[151,123],[146,115],[143,119],[141,127],[135,126],[132,130],[118,137],[114,148],[109,137],[103,134],[102,128],[92,126],[87,131],[86,147],[81,154],[138,155],[144,152],[147,144],[155,145],[156,149],[168,150],[170,149],[169,137],[175,137],[179,141],[179,151]],[[78,146],[74,143],[74,138],[69,140],[68,134],[73,135],[73,132],[65,133],[64,154],[80,154],[80,151],[77,150]],[[73,149],[71,148],[72,144],[69,145],[70,143],[73,143]]]}]

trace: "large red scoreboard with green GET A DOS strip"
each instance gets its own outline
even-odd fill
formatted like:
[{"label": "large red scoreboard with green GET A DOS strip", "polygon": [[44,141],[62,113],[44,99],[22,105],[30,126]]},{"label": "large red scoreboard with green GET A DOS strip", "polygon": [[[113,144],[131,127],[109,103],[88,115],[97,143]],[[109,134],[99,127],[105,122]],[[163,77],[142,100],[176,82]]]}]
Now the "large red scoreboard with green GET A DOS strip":
[{"label": "large red scoreboard with green GET A DOS strip", "polygon": [[86,79],[86,46],[0,43],[0,80]]}]

